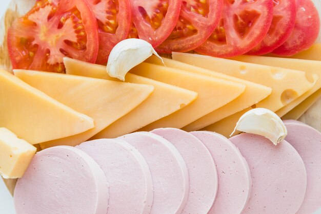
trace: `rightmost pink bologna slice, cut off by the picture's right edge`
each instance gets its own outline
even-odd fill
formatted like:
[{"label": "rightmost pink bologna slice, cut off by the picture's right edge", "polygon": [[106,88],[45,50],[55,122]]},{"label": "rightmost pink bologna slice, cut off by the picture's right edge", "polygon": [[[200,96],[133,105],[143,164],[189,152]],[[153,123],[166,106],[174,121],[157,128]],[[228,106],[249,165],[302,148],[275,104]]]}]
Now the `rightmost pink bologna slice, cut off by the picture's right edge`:
[{"label": "rightmost pink bologna slice, cut off by the picture's right edge", "polygon": [[297,214],[313,213],[321,207],[321,133],[296,120],[285,120],[288,141],[302,157],[307,170],[307,191]]}]

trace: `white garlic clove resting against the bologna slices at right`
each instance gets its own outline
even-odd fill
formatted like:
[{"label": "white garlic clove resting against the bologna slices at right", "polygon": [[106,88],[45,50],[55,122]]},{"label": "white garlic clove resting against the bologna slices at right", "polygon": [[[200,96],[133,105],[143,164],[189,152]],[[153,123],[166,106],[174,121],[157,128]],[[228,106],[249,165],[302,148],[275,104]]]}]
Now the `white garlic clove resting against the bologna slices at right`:
[{"label": "white garlic clove resting against the bologna slices at right", "polygon": [[242,115],[236,123],[233,133],[236,130],[262,135],[271,140],[274,145],[283,141],[288,134],[281,118],[274,112],[263,108],[253,109]]}]

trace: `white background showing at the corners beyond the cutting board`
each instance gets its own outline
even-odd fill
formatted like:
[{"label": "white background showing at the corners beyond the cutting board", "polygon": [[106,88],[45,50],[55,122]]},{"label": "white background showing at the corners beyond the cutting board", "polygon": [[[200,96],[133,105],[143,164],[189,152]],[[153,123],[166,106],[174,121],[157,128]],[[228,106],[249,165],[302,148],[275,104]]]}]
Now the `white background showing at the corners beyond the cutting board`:
[{"label": "white background showing at the corners beyond the cutting board", "polygon": [[[10,0],[1,0],[0,17],[3,16],[9,2]],[[15,214],[12,197],[2,179],[0,179],[0,207],[3,214]],[[315,214],[321,214],[321,210]]]}]

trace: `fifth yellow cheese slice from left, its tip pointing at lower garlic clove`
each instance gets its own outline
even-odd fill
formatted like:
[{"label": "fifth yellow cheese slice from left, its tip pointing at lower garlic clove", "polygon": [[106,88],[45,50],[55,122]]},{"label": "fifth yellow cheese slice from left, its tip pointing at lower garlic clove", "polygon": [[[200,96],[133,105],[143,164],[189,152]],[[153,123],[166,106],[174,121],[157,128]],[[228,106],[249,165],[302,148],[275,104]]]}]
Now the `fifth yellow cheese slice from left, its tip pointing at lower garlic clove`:
[{"label": "fifth yellow cheese slice from left, its tip pointing at lower garlic clove", "polygon": [[[176,68],[184,71],[189,71],[193,73],[198,73],[198,74],[204,74],[220,79],[225,79],[229,80],[232,82],[237,82],[246,85],[245,91],[236,99],[233,101],[227,103],[226,105],[222,106],[221,108],[195,120],[194,122],[188,124],[187,126],[183,127],[182,129],[191,132],[191,131],[196,131],[199,129],[202,129],[205,126],[208,126],[214,122],[217,122],[225,117],[228,117],[232,114],[235,114],[239,111],[242,111],[249,106],[254,105],[255,103],[263,100],[267,96],[271,94],[272,89],[269,87],[266,87],[265,85],[262,84],[257,84],[254,82],[246,81],[243,79],[235,78],[229,75],[225,75],[219,72],[207,70],[207,69],[202,69],[199,67],[191,66],[189,64],[172,60],[172,59],[163,59],[165,62],[165,65],[170,68]],[[152,56],[146,60],[147,62],[154,63],[156,65],[163,65],[162,61],[155,57]]]}]

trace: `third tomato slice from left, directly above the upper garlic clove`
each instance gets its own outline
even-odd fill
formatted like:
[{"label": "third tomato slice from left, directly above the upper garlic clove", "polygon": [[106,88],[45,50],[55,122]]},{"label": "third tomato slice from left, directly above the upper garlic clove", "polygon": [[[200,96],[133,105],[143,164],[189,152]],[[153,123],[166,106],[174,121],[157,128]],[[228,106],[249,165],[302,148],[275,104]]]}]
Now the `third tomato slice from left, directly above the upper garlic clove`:
[{"label": "third tomato slice from left, directly above the upper garlic clove", "polygon": [[171,34],[179,17],[182,0],[130,0],[133,26],[129,37],[139,37],[153,47]]}]

